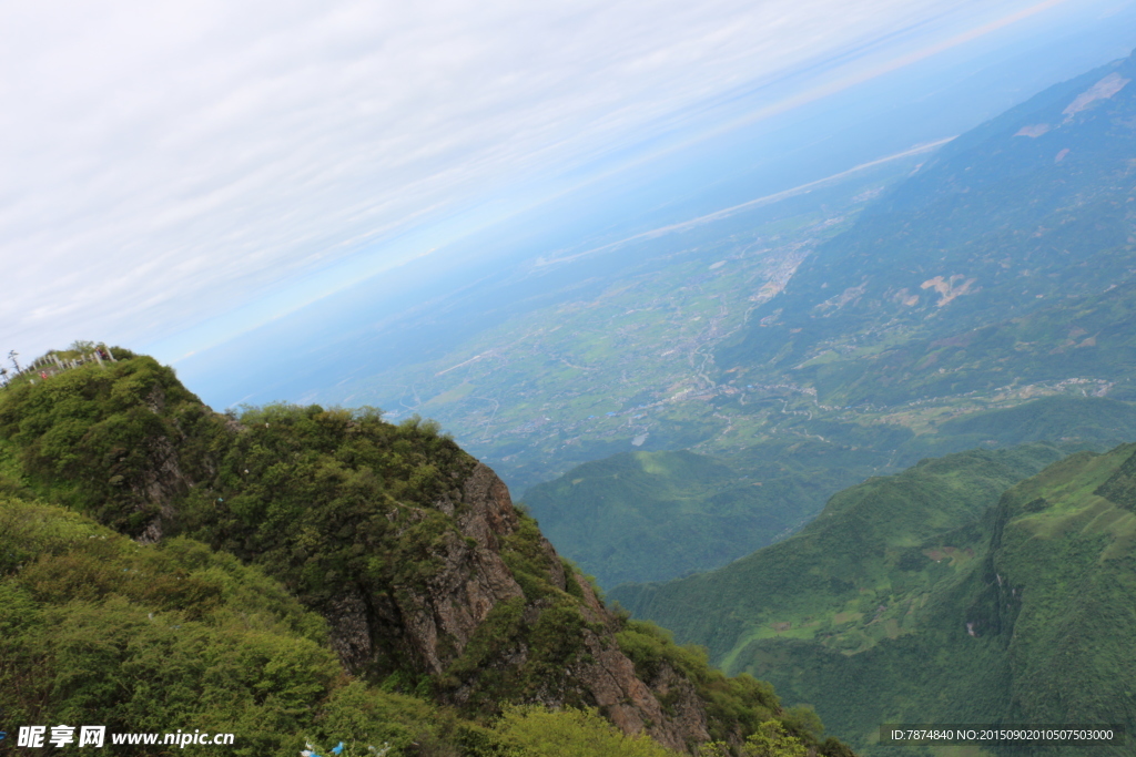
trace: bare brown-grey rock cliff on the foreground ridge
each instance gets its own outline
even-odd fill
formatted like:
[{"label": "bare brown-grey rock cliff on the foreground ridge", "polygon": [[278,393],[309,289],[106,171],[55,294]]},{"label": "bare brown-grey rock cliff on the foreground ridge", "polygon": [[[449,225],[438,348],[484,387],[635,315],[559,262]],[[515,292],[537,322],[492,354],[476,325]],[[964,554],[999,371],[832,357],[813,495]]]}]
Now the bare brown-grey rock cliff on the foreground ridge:
[{"label": "bare brown-grey rock cliff on the foreground ridge", "polygon": [[[420,672],[440,676],[461,657],[502,603],[524,602],[521,619],[529,624],[552,606],[549,599],[526,599],[502,557],[502,546],[519,528],[520,519],[508,488],[491,469],[477,464],[462,482],[460,496],[443,497],[435,506],[458,528],[436,545],[434,557],[441,567],[425,587],[395,587],[390,592],[393,602],[346,592],[325,612],[334,647],[350,670],[365,668],[375,662],[377,649],[394,644],[416,661]],[[579,634],[571,640],[579,654],[559,671],[559,680],[548,680],[533,690],[531,700],[549,706],[570,700],[599,707],[624,732],[646,731],[674,749],[687,750],[708,741],[705,708],[693,684],[669,668],[655,676],[655,689],[641,680],[616,641],[619,621],[586,581],[577,581],[565,571],[543,537],[540,549],[546,557],[549,583],[561,591],[568,581],[579,586],[577,594],[583,594],[583,599],[576,600],[577,609],[586,624],[578,630],[565,629],[565,633]],[[484,661],[484,670],[508,673],[525,665],[533,654],[524,644],[513,645]],[[461,705],[469,691],[469,687],[457,687],[451,699]],[[667,708],[660,696],[668,697]]]}]

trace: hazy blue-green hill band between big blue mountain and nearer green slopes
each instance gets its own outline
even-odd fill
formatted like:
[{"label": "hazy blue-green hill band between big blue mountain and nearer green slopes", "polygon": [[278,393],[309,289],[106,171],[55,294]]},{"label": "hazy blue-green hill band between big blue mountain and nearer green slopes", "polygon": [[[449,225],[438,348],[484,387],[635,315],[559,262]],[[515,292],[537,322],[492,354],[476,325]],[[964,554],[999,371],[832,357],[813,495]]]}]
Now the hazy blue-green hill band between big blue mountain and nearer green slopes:
[{"label": "hazy blue-green hill band between big blue mountain and nearer green slopes", "polygon": [[623,453],[533,487],[525,504],[558,549],[610,589],[726,565],[796,531],[837,491],[924,457],[1038,440],[1100,452],[1136,438],[1136,405],[1104,397],[919,418],[905,419],[926,423],[918,435],[897,422],[801,418],[783,423],[796,440],[730,456]]}]

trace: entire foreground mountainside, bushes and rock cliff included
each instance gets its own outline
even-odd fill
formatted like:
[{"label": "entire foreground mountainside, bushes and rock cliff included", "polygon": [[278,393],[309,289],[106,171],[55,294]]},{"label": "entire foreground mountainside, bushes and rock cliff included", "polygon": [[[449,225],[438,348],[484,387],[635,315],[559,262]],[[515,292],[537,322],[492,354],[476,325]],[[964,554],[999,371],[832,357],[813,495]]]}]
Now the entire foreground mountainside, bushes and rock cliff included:
[{"label": "entire foreground mountainside, bushes and rock cliff included", "polygon": [[189,725],[248,755],[662,755],[770,729],[847,754],[607,609],[432,424],[220,415],[114,353],[0,392],[6,723]]}]

